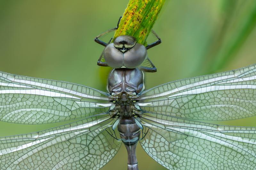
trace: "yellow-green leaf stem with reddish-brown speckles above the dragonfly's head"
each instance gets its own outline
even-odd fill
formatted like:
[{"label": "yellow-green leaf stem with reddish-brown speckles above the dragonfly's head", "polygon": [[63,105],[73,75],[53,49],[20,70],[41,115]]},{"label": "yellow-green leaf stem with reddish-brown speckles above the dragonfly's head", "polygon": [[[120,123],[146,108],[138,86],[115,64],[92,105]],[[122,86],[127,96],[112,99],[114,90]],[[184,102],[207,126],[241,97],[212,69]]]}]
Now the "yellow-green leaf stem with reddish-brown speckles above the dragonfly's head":
[{"label": "yellow-green leaf stem with reddish-brown speckles above the dragonfly's head", "polygon": [[138,43],[147,45],[150,33],[165,0],[130,0],[120,20],[114,38],[132,35]]}]

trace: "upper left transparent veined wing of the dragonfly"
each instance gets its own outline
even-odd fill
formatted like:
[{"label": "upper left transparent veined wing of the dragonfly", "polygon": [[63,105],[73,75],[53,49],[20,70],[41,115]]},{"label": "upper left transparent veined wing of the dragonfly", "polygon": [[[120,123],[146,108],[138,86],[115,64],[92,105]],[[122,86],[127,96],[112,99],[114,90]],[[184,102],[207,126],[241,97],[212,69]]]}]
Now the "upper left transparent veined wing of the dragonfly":
[{"label": "upper left transparent veined wing of the dragonfly", "polygon": [[0,72],[0,121],[54,123],[106,113],[108,94],[67,82]]}]

